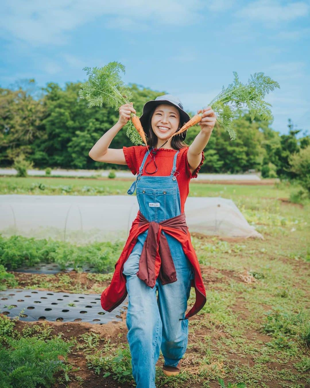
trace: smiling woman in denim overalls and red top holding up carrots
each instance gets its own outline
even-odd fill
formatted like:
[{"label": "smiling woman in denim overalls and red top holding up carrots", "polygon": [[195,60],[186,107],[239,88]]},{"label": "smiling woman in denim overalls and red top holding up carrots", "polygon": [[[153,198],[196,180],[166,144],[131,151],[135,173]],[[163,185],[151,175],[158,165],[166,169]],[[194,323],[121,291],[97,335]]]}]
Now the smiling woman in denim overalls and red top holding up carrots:
[{"label": "smiling woman in denim overalls and red top holding up carrots", "polygon": [[[136,189],[138,215],[115,264],[111,284],[102,293],[101,304],[110,312],[128,293],[126,324],[133,377],[137,388],[154,388],[160,349],[164,374],[178,374],[188,343],[188,318],[206,301],[184,203],[189,181],[197,177],[203,163],[203,149],[216,116],[211,107],[197,112],[202,113],[201,131],[189,147],[184,143],[186,132],[168,140],[189,116],[179,99],[163,95],[146,102],[140,117],[150,152],[143,145],[108,148],[131,112],[136,113],[131,104],[121,106],[119,121],[89,152],[96,161],[127,164],[137,174],[128,194]],[[196,301],[185,315],[191,287],[195,287]]]}]

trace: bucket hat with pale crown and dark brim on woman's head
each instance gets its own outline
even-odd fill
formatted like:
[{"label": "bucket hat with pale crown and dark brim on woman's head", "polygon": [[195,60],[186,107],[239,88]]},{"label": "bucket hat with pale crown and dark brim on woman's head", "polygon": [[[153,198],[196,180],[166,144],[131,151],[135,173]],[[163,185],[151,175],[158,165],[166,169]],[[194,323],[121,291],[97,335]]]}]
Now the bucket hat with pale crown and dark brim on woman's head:
[{"label": "bucket hat with pale crown and dark brim on woman's head", "polygon": [[[160,105],[160,104],[173,105],[179,110],[181,126],[183,126],[185,123],[187,123],[188,120],[190,119],[189,115],[183,109],[183,104],[181,103],[181,101],[177,97],[175,97],[171,94],[164,94],[162,96],[156,97],[155,100],[150,100],[144,104],[143,114],[140,117],[141,125],[143,127],[143,130],[144,130],[144,133],[146,134],[146,136],[148,136],[147,125],[148,125],[148,120],[150,118],[149,117],[150,112],[152,111],[152,109],[155,106]],[[184,131],[178,136],[180,136],[182,140],[185,140],[186,132],[187,131]]]}]

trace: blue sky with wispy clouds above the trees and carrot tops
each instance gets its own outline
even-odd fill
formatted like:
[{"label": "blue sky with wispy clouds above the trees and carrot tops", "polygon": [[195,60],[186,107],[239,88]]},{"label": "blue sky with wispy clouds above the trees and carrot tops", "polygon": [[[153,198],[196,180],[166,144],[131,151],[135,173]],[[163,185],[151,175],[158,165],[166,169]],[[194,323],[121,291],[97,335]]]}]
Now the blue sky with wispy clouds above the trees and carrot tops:
[{"label": "blue sky with wispy clouds above the trees and carrot tops", "polygon": [[[0,87],[34,78],[64,87],[84,66],[118,61],[122,77],[196,112],[233,81],[263,72],[272,129],[310,132],[310,0],[4,0]],[[138,112],[139,113],[139,112]]]}]

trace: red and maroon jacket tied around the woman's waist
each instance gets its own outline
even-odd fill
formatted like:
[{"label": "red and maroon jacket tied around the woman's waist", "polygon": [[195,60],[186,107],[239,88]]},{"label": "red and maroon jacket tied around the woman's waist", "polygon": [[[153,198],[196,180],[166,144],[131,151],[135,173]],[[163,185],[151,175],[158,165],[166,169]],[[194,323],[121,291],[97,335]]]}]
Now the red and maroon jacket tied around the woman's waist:
[{"label": "red and maroon jacket tied around the woman's waist", "polygon": [[111,312],[126,298],[126,276],[122,273],[124,263],[133,250],[139,234],[145,232],[147,229],[148,235],[141,253],[137,276],[151,288],[155,286],[157,277],[162,284],[175,282],[177,280],[176,270],[167,239],[162,234],[162,231],[176,238],[181,243],[184,254],[187,256],[194,270],[194,279],[191,282],[191,286],[195,287],[196,301],[191,310],[185,315],[185,318],[189,318],[196,314],[205,304],[206,292],[184,213],[157,223],[148,222],[142,213],[138,211],[121,256],[115,263],[115,271],[111,284],[101,294],[102,308],[105,311]]}]

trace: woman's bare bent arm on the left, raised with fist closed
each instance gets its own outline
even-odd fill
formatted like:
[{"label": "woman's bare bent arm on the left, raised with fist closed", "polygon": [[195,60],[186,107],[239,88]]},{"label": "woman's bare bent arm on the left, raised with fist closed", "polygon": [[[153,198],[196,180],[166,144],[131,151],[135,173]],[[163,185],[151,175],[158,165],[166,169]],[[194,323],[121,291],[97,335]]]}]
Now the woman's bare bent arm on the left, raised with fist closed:
[{"label": "woman's bare bent arm on the left, raised with fist closed", "polygon": [[91,159],[97,162],[126,165],[123,150],[109,148],[109,145],[122,127],[127,124],[131,112],[136,113],[135,109],[130,104],[124,104],[119,108],[119,120],[117,123],[100,137],[90,152],[88,152]]}]

